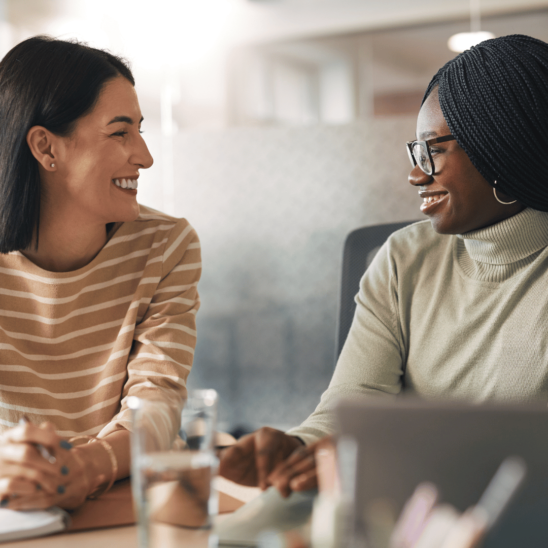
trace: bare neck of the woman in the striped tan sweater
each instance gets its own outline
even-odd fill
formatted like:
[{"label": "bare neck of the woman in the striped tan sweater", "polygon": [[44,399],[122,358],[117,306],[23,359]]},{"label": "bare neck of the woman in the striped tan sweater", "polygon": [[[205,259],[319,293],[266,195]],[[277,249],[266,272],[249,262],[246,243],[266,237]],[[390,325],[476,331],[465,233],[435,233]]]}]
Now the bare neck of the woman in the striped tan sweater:
[{"label": "bare neck of the woman in the striped tan sweater", "polygon": [[41,269],[49,272],[70,272],[81,269],[93,260],[107,242],[104,222],[91,224],[90,219],[47,207],[40,212],[38,247],[36,236],[30,248],[21,253]]}]

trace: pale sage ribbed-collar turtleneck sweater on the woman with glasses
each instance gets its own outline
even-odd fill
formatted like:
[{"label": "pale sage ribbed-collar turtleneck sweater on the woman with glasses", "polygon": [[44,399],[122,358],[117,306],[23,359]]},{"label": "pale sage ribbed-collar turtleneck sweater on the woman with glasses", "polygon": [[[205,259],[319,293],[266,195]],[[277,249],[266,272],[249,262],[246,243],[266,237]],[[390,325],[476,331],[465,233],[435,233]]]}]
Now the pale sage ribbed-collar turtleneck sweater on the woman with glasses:
[{"label": "pale sage ribbed-collar turtleneck sweater on the woman with glasses", "polygon": [[333,378],[288,433],[333,432],[333,405],[414,393],[468,402],[548,402],[548,213],[524,209],[463,235],[430,221],[393,233],[364,274]]}]

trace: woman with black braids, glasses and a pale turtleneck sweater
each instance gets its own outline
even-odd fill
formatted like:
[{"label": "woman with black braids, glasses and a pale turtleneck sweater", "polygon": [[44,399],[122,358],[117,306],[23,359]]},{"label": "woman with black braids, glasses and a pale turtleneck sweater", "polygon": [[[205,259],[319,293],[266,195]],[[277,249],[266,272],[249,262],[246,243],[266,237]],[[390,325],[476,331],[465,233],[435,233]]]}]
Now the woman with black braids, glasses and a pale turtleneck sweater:
[{"label": "woman with black braids, glasses and a pale turtleneck sweater", "polygon": [[340,398],[548,402],[546,127],[545,42],[492,39],[437,72],[407,143],[430,222],[393,233],[365,272],[315,412],[287,433],[242,438],[223,475],[310,488],[314,443],[335,430]]}]

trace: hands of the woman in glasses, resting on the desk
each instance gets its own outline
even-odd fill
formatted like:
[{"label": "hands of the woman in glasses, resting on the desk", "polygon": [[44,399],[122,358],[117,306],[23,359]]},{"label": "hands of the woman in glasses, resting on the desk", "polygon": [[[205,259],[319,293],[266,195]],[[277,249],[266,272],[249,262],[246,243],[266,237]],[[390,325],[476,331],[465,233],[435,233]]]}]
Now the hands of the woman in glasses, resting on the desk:
[{"label": "hands of the woman in glasses, resting on the desk", "polygon": [[263,490],[275,486],[283,496],[312,489],[317,486],[317,443],[305,447],[299,438],[265,426],[222,450],[220,474]]}]

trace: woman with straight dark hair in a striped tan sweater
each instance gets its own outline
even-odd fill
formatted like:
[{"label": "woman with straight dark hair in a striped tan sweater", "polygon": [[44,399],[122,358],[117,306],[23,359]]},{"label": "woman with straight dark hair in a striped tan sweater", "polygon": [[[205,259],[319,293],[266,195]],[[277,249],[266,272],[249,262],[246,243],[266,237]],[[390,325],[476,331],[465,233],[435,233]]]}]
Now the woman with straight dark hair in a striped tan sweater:
[{"label": "woman with straight dark hair in a striped tan sweater", "polygon": [[128,476],[128,396],[156,401],[159,446],[176,436],[200,250],[136,201],[142,119],[110,53],[34,37],[0,62],[1,507],[75,507]]}]

